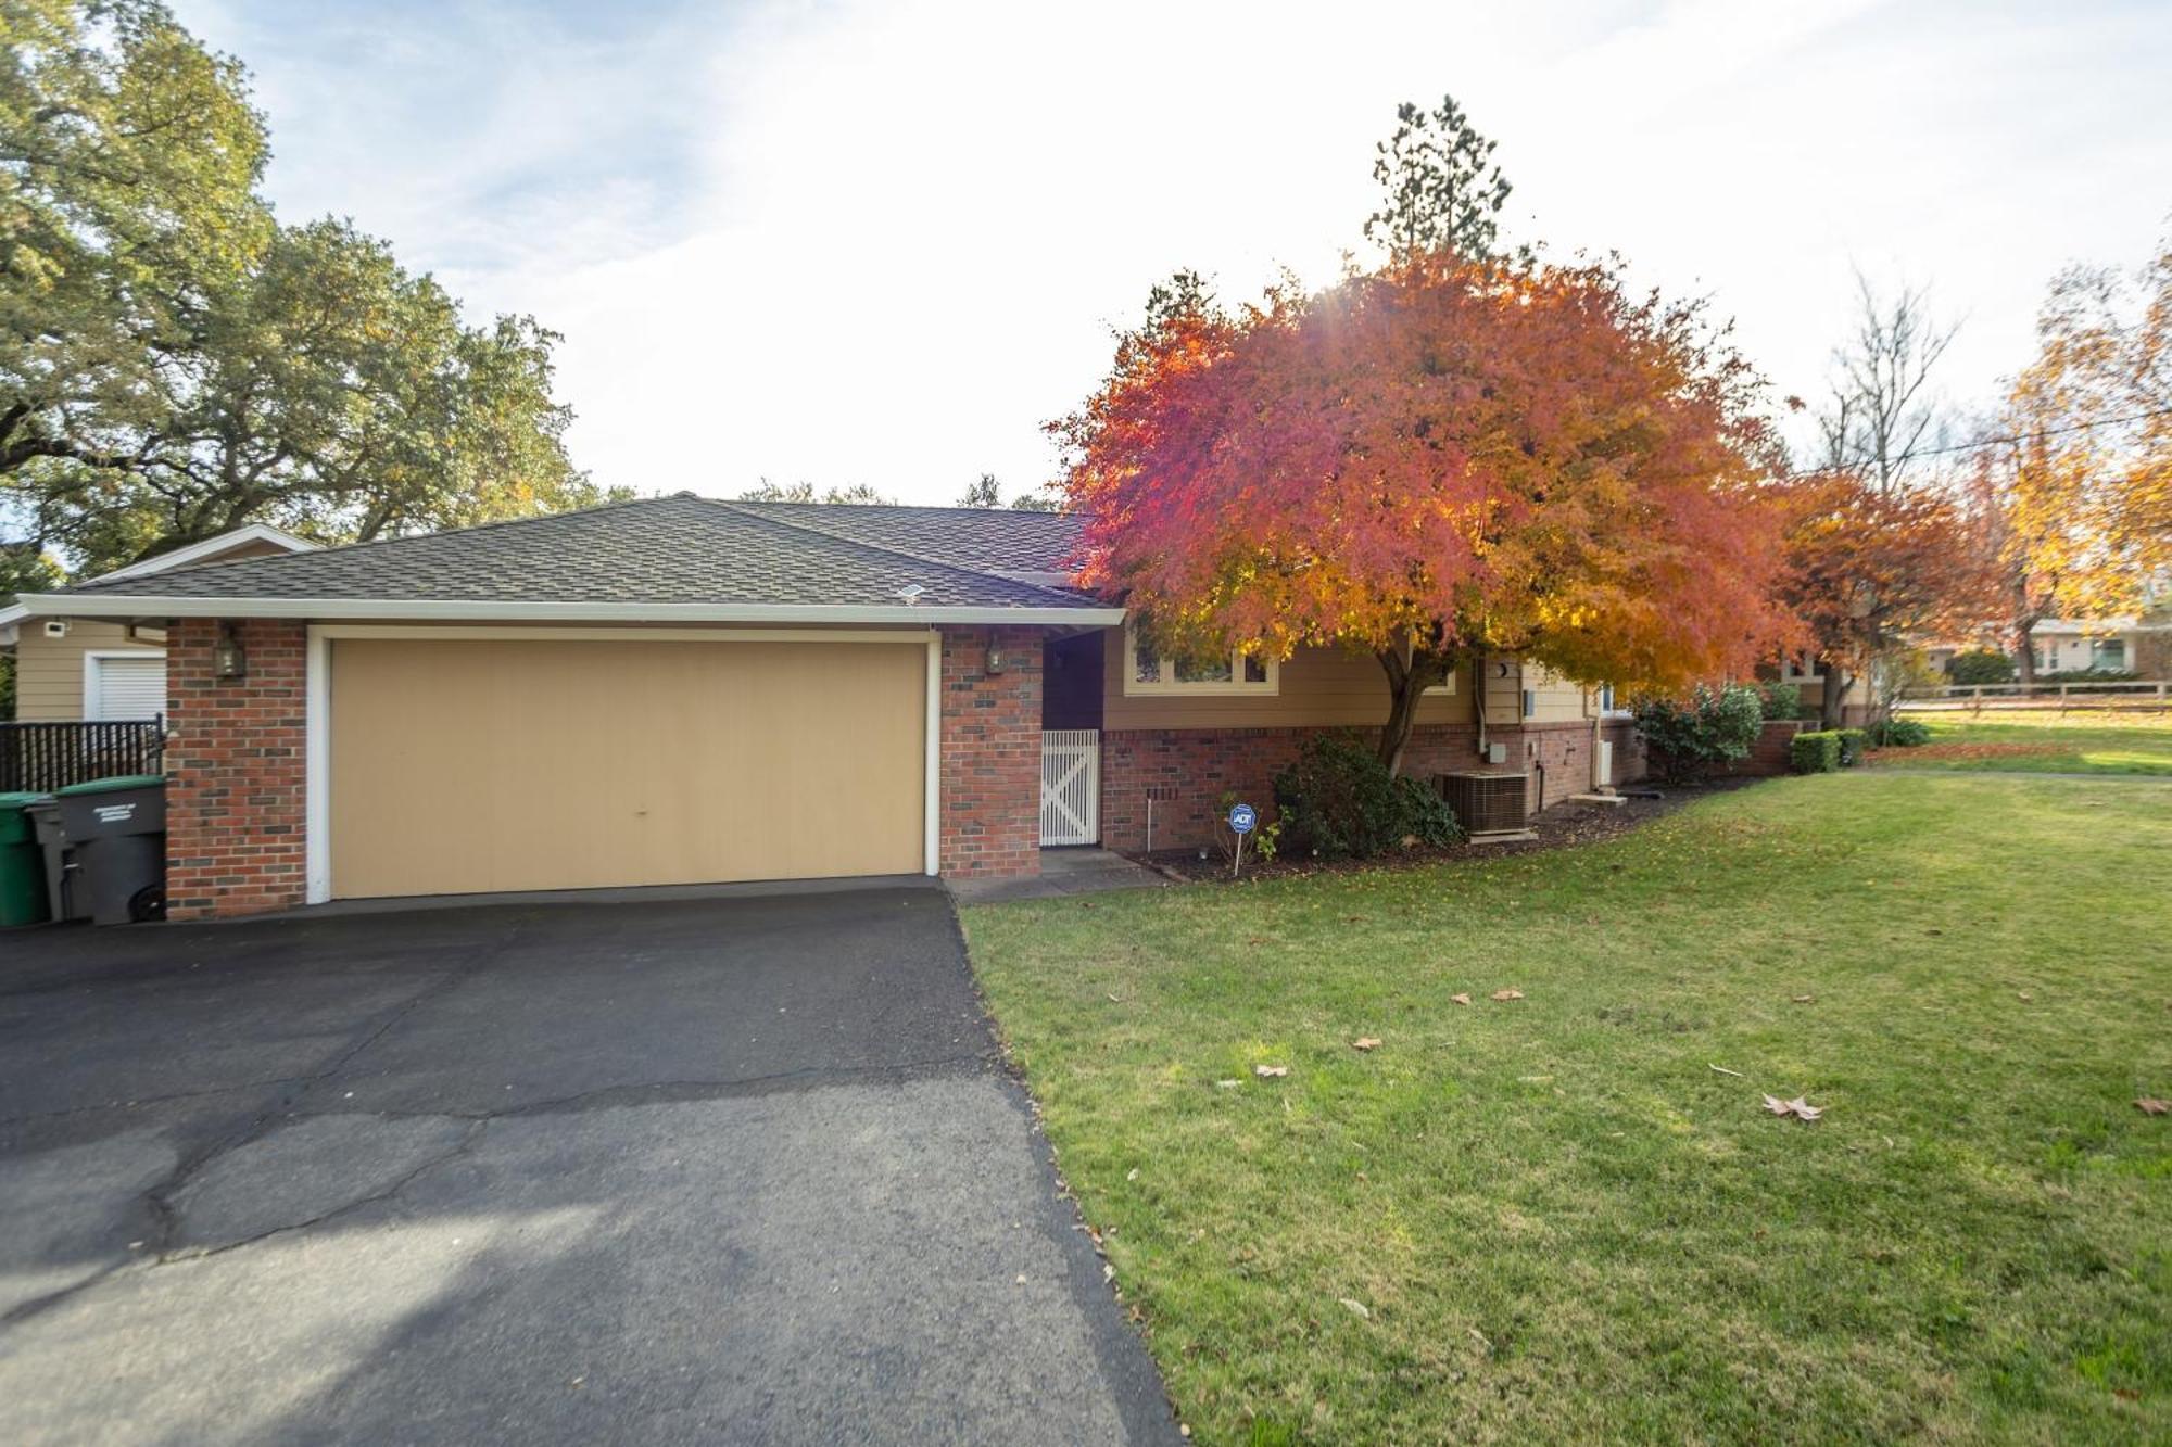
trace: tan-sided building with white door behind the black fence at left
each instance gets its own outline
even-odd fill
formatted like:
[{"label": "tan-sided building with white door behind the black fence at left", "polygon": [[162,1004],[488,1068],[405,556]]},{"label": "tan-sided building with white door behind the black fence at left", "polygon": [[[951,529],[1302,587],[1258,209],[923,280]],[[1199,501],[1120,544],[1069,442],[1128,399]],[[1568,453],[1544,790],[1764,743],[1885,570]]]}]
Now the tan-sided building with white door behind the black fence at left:
[{"label": "tan-sided building with white door behind the black fence at left", "polygon": [[[315,543],[291,532],[250,524],[130,563],[96,582],[311,548]],[[0,652],[15,656],[15,717],[26,724],[154,719],[165,713],[165,630],[156,619],[33,619],[26,606],[15,604],[0,608]]]}]

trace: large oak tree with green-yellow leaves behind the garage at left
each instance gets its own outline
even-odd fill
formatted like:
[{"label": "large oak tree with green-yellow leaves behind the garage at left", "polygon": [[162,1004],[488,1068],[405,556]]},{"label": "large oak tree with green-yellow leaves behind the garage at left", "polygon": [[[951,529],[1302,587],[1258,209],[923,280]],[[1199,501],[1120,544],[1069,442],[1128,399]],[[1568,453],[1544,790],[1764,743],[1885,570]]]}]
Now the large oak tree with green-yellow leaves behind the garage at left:
[{"label": "large oak tree with green-yellow leaves behind the garage at left", "polygon": [[282,226],[245,74],[156,0],[0,0],[0,519],[76,571],[248,521],[365,541],[604,498],[558,337]]}]

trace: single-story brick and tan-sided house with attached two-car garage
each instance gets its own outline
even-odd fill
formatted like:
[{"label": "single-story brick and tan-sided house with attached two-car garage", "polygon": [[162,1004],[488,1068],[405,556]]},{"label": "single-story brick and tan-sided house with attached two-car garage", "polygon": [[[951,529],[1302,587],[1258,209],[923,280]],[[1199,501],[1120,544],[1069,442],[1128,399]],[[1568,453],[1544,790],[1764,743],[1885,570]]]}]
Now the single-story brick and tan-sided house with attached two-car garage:
[{"label": "single-story brick and tan-sided house with attached two-car garage", "polygon": [[[339,897],[895,873],[1205,843],[1388,710],[1371,656],[1153,656],[1079,521],[678,493],[109,576],[26,619],[165,641],[172,917]],[[1414,773],[1633,778],[1605,689],[1497,658]]]}]

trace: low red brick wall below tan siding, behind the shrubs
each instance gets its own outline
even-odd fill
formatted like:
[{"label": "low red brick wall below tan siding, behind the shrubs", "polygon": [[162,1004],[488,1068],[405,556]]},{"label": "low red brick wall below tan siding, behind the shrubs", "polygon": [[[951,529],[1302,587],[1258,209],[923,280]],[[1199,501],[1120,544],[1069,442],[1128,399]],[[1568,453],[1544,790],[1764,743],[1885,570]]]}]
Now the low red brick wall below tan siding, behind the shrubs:
[{"label": "low red brick wall below tan siding, behind the shrubs", "polygon": [[[1177,850],[1210,843],[1223,828],[1223,793],[1275,813],[1275,773],[1284,769],[1318,728],[1184,728],[1116,730],[1101,734],[1101,843],[1110,850],[1147,847],[1147,795],[1153,793],[1153,847]],[[1360,739],[1371,741],[1368,730]],[[1488,734],[1507,745],[1503,771],[1529,771],[1531,806],[1538,806],[1533,763],[1546,767],[1546,806],[1592,787],[1592,726],[1527,724]],[[1642,776],[1642,754],[1629,724],[1607,724],[1614,741],[1614,782]],[[1538,750],[1536,754],[1531,750]],[[1462,769],[1483,769],[1477,728],[1470,724],[1420,724],[1410,737],[1403,773],[1431,778]]]}]

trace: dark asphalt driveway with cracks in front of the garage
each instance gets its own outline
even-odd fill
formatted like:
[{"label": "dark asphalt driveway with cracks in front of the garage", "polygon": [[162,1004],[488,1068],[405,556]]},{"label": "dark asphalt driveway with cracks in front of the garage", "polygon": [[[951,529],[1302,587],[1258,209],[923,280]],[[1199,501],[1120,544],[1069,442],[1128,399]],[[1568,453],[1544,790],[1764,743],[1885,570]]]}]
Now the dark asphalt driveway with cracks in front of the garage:
[{"label": "dark asphalt driveway with cracks in front of the garage", "polygon": [[1173,1440],[934,889],[0,936],[0,1440]]}]

